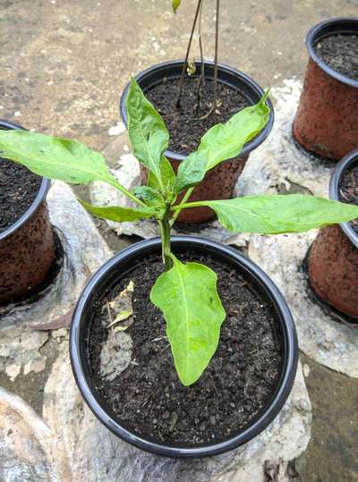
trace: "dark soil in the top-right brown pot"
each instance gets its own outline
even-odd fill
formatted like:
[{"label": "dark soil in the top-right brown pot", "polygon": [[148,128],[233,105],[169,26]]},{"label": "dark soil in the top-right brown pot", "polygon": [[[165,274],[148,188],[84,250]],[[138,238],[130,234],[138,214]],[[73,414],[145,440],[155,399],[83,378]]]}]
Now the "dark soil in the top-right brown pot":
[{"label": "dark soil in the top-right brown pot", "polygon": [[331,35],[320,40],[314,50],[328,67],[358,80],[358,35]]}]

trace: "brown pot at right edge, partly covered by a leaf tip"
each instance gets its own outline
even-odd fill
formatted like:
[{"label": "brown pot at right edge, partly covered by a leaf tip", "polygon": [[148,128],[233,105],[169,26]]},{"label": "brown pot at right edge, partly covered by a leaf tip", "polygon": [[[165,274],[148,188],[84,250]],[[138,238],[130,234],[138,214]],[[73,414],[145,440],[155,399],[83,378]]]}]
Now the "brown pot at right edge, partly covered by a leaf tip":
[{"label": "brown pot at right edge, partly covered by a leaf tip", "polygon": [[[330,199],[339,200],[345,172],[358,164],[355,150],[337,165],[329,185]],[[358,234],[349,223],[328,226],[313,242],[308,258],[311,287],[321,300],[358,318]]]}]

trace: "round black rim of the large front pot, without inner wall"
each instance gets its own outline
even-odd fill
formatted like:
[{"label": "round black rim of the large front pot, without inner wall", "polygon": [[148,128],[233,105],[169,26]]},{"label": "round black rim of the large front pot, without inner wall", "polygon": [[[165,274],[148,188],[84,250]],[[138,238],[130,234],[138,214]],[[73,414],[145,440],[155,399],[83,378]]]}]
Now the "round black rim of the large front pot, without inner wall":
[{"label": "round black rim of the large front pot, without inner wall", "polygon": [[80,299],[73,312],[72,325],[70,331],[70,355],[72,363],[72,371],[77,382],[77,385],[81,391],[83,399],[89,405],[90,410],[94,415],[115,435],[124,439],[125,442],[133,444],[141,450],[147,452],[154,452],[158,455],[174,458],[200,458],[207,457],[211,455],[217,455],[218,453],[227,452],[232,450],[239,445],[245,444],[251,440],[256,435],[259,435],[262,430],[264,430],[272,422],[273,419],[277,417],[278,412],[284,406],[286,399],[291,392],[292,386],[294,385],[294,379],[298,364],[298,342],[297,335],[294,327],[294,319],[292,317],[291,311],[286,304],[281,292],[279,292],[277,286],[273,281],[266,275],[259,266],[255,265],[251,259],[246,258],[242,253],[238,252],[236,249],[223,246],[215,241],[208,241],[203,238],[190,237],[190,236],[174,236],[173,244],[177,243],[192,243],[194,246],[205,249],[213,249],[216,252],[221,252],[223,255],[234,259],[246,274],[251,275],[256,279],[263,290],[265,290],[273,304],[276,306],[277,312],[281,318],[280,325],[282,327],[282,333],[286,343],[286,359],[283,360],[283,368],[280,376],[279,385],[277,385],[275,390],[275,396],[268,402],[268,405],[262,410],[260,417],[253,423],[249,424],[242,431],[239,431],[236,435],[229,437],[228,439],[214,444],[200,444],[198,447],[182,447],[175,446],[172,444],[159,444],[140,435],[132,433],[127,430],[120,423],[112,419],[107,411],[102,408],[100,403],[97,401],[92,388],[87,382],[84,362],[81,360],[81,326],[83,324],[82,312],[86,308],[87,301],[90,299],[92,292],[96,289],[98,282],[106,277],[108,271],[112,270],[113,267],[121,263],[127,256],[135,256],[137,253],[141,252],[143,249],[156,249],[160,247],[160,239],[155,238],[147,241],[140,241],[122,251],[117,253],[115,257],[109,259],[107,263],[101,266],[97,273],[92,276],[89,283],[85,287],[81,294]]}]

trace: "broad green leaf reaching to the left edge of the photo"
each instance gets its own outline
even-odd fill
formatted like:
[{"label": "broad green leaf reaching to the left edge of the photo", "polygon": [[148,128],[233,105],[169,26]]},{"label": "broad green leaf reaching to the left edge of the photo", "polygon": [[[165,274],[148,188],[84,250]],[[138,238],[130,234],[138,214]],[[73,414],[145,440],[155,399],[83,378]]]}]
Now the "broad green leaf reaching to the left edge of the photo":
[{"label": "broad green leaf reaching to the left edge of the photo", "polygon": [[25,165],[33,173],[64,182],[116,185],[106,161],[77,140],[29,131],[0,131],[0,156]]}]

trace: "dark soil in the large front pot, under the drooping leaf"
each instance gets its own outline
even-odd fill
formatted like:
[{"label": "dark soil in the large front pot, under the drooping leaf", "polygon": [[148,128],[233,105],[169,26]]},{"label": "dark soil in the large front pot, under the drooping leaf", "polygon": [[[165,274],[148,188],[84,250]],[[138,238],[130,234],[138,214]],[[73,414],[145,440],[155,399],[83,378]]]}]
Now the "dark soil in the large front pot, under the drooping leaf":
[{"label": "dark soil in the large front pot, under the drooping leaf", "polygon": [[[118,420],[139,435],[161,442],[217,442],[245,426],[277,387],[282,364],[277,318],[266,300],[233,266],[209,256],[186,254],[218,275],[217,290],[226,309],[220,342],[199,381],[181,385],[175,372],[166,324],[149,301],[163,267],[159,257],[144,259],[115,289],[98,300],[90,328],[94,386]],[[107,301],[134,283],[132,362],[113,381],[100,375],[100,354],[108,336]]]}]

